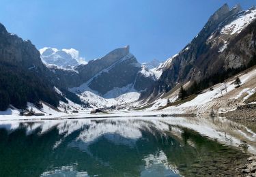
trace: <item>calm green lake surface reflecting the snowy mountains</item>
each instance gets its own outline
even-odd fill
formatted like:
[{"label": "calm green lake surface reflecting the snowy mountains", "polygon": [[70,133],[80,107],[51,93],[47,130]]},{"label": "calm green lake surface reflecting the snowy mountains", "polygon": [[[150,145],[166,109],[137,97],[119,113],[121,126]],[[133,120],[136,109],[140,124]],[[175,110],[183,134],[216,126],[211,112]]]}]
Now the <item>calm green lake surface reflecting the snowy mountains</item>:
[{"label": "calm green lake surface reflecting the snowy mountains", "polygon": [[225,118],[1,121],[0,176],[233,176],[256,133]]}]

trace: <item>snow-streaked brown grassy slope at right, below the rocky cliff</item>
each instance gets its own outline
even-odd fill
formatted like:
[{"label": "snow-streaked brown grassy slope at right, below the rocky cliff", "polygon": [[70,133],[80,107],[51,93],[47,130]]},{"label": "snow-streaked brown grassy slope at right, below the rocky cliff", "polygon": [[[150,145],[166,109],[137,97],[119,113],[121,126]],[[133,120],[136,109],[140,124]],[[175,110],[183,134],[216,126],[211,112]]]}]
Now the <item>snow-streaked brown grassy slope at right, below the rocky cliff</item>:
[{"label": "snow-streaked brown grassy slope at right, below the rocky cliff", "polygon": [[[234,84],[236,77],[239,77],[242,82],[238,88]],[[233,76],[223,83],[216,84],[212,86],[212,89],[207,88],[190,101],[177,106],[169,106],[164,110],[173,113],[202,113],[210,112],[211,110],[214,110],[214,112],[227,112],[244,104],[244,101],[255,92],[256,68]],[[170,102],[174,102],[178,99],[177,95],[178,90],[171,93],[168,97],[159,98],[147,110],[158,110],[161,107],[167,106],[167,99]]]}]

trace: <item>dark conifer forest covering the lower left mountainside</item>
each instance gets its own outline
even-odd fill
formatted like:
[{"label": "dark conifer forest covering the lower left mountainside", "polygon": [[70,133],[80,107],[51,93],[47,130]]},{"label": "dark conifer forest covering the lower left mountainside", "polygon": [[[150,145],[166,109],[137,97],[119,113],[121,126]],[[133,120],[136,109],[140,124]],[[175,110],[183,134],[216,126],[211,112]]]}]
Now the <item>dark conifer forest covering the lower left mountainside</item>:
[{"label": "dark conifer forest covering the lower left mountainside", "polygon": [[10,104],[23,109],[28,101],[37,103],[42,100],[55,107],[59,105],[60,96],[53,86],[35,72],[0,63],[0,76],[0,110],[6,110]]}]

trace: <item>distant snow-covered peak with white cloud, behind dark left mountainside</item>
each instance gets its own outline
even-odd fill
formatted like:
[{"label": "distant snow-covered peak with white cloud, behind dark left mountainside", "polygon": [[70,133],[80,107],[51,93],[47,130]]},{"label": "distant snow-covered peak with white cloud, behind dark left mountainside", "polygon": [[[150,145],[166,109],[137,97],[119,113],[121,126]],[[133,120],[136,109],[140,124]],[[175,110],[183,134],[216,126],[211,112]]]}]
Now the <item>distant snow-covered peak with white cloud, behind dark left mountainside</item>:
[{"label": "distant snow-covered peak with white cloud, behind dark left mountainside", "polygon": [[63,48],[62,50],[57,48],[42,48],[39,51],[44,63],[57,65],[61,68],[75,67],[87,63],[83,57],[79,56],[79,51],[74,48]]}]

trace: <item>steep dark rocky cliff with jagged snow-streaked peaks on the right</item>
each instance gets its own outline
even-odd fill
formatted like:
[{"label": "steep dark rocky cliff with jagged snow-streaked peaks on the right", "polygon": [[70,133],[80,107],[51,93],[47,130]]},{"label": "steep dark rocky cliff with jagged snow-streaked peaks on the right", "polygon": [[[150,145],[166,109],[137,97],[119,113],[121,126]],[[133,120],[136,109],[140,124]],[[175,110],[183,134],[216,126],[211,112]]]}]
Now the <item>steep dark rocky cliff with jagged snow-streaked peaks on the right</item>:
[{"label": "steep dark rocky cliff with jagged snow-streaked peaks on the right", "polygon": [[255,7],[217,10],[205,27],[162,68],[156,91],[169,91],[188,80],[202,80],[227,69],[247,65],[255,56]]}]

